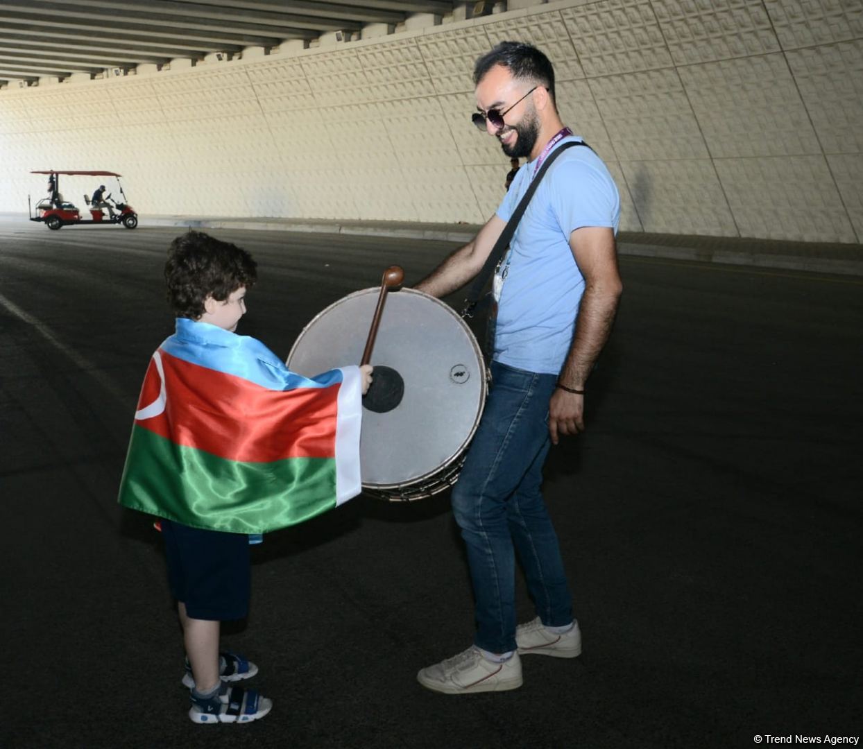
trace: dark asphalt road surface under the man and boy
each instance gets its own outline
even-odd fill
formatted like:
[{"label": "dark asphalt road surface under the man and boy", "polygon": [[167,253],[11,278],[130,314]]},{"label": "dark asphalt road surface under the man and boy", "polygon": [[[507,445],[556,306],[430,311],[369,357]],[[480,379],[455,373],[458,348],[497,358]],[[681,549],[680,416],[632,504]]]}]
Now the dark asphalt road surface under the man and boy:
[{"label": "dark asphalt road surface under the man and boy", "polygon": [[[546,472],[583,656],[524,658],[524,686],[501,694],[420,687],[416,671],[473,634],[448,495],[362,496],[254,550],[251,614],[224,644],[259,664],[273,712],[193,725],[161,540],[116,500],[144,369],[173,330],[161,272],[179,232],[0,223],[3,749],[746,747],[863,733],[863,283],[638,258],[621,259],[588,431]],[[388,265],[410,285],[453,249],[212,233],[259,263],[240,332],[286,355]],[[519,614],[533,615],[521,583]]]}]

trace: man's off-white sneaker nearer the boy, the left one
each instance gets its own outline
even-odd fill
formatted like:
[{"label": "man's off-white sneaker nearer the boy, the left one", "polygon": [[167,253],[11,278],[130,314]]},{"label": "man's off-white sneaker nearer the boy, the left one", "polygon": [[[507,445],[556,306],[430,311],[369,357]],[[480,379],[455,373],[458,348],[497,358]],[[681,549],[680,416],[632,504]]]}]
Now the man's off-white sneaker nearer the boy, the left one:
[{"label": "man's off-white sneaker nearer the boy, the left one", "polygon": [[483,658],[476,645],[471,645],[455,658],[447,658],[417,674],[417,681],[428,689],[447,695],[467,695],[473,692],[502,692],[521,686],[521,661],[518,653],[503,663]]}]

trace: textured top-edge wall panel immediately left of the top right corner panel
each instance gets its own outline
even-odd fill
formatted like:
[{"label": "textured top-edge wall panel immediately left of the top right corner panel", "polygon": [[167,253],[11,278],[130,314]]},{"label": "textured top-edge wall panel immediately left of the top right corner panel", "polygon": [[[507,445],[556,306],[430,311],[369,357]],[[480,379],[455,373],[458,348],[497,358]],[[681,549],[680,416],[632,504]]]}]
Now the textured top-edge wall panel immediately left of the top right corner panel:
[{"label": "textured top-edge wall panel immediately left of the top right corner panel", "polygon": [[779,51],[761,0],[652,0],[678,65]]}]

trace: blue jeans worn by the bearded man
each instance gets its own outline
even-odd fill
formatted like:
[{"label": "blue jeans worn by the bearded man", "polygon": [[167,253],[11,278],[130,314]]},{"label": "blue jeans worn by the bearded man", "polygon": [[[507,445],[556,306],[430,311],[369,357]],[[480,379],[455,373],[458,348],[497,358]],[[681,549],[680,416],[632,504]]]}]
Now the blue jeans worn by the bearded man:
[{"label": "blue jeans worn by the bearded man", "polygon": [[544,624],[572,621],[557,534],[539,488],[548,456],[548,403],[557,377],[492,362],[492,387],[452,510],[467,544],[483,650],[515,650],[515,551]]}]

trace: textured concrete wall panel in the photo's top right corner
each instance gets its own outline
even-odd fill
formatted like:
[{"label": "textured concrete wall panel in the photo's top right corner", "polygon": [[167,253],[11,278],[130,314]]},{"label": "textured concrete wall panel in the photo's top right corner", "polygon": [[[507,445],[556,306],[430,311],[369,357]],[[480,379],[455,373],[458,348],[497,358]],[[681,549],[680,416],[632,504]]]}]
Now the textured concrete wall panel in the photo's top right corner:
[{"label": "textured concrete wall panel in the photo's top right corner", "polygon": [[860,0],[765,0],[765,7],[783,49],[863,36]]}]

